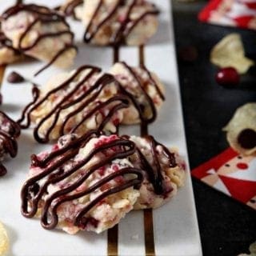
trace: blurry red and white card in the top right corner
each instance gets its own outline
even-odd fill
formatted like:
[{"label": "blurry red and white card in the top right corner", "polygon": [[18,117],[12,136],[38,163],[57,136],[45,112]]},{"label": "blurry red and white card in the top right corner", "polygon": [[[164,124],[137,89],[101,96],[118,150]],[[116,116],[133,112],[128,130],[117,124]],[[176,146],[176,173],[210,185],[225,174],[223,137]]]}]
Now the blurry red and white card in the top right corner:
[{"label": "blurry red and white card in the top right corner", "polygon": [[202,22],[256,30],[256,0],[210,0],[198,18]]}]

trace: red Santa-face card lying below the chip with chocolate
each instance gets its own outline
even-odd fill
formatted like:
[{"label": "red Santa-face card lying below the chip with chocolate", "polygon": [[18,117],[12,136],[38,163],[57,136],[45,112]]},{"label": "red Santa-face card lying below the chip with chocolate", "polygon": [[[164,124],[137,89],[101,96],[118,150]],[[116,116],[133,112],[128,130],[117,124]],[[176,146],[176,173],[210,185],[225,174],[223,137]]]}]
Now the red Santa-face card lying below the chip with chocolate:
[{"label": "red Santa-face card lying below the chip with chocolate", "polygon": [[192,170],[192,176],[256,210],[256,157],[229,148]]}]

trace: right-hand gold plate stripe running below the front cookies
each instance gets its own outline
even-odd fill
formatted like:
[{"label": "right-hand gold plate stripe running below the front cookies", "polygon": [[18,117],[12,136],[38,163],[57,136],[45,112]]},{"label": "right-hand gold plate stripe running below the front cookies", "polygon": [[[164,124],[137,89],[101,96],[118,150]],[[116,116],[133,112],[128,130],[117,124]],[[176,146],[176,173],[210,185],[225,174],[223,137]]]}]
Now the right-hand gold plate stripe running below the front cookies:
[{"label": "right-hand gold plate stripe running below the front cookies", "polygon": [[155,256],[154,251],[154,226],[152,209],[144,210],[144,232],[146,256]]}]

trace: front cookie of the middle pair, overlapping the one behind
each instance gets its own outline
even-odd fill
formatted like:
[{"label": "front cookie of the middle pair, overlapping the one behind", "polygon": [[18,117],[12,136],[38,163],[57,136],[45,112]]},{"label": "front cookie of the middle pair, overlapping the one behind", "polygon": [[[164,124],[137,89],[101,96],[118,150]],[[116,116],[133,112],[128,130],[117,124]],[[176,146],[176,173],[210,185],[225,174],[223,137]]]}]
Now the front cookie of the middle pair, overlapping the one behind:
[{"label": "front cookie of the middle pair, overlapping the one behind", "polygon": [[129,99],[120,94],[119,87],[113,76],[102,74],[94,66],[55,75],[42,90],[34,87],[34,101],[18,122],[22,128],[33,122],[38,142],[94,129],[117,132],[123,118],[121,110],[129,106]]}]

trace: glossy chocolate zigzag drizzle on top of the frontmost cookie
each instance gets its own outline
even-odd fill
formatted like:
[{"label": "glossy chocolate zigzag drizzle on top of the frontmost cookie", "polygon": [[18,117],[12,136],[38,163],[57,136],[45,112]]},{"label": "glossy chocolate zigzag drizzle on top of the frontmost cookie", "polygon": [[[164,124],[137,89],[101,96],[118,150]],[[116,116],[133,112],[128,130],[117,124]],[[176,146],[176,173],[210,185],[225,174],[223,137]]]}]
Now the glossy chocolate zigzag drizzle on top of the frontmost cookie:
[{"label": "glossy chocolate zigzag drizzle on top of the frontmost cookie", "polygon": [[[45,159],[39,160],[36,156],[33,158],[36,159],[33,162],[34,166],[40,166],[43,168],[42,173],[37,174],[36,176],[30,178],[26,181],[22,187],[22,214],[26,218],[32,218],[38,210],[38,204],[42,199],[42,196],[47,193],[48,187],[50,184],[56,184],[61,182],[63,179],[74,175],[76,171],[85,166],[90,160],[94,157],[95,154],[99,152],[104,152],[111,148],[115,148],[113,154],[105,155],[100,162],[96,162],[93,166],[90,166],[86,170],[85,174],[82,174],[75,182],[69,184],[62,190],[58,190],[46,198],[42,206],[42,217],[41,223],[42,226],[46,229],[53,229],[58,225],[58,214],[57,209],[64,202],[69,202],[74,199],[82,198],[86,194],[90,194],[95,190],[102,188],[106,183],[114,180],[117,177],[124,177],[126,174],[134,174],[136,177],[130,178],[119,184],[118,186],[112,186],[109,189],[103,190],[102,194],[98,195],[97,198],[94,198],[86,206],[78,211],[74,218],[74,226],[82,226],[82,221],[84,215],[88,213],[94,206],[101,202],[104,198],[110,196],[111,194],[118,193],[119,191],[125,190],[128,187],[134,186],[139,188],[142,183],[142,172],[141,170],[134,167],[124,167],[113,174],[109,174],[106,177],[102,178],[100,181],[94,183],[93,186],[86,188],[80,192],[75,190],[82,185],[96,170],[102,166],[110,164],[115,159],[127,158],[135,152],[135,145],[133,142],[130,142],[124,138],[118,138],[107,144],[103,144],[91,150],[90,153],[79,162],[73,162],[72,166],[68,170],[63,169],[66,162],[69,162],[76,154],[78,154],[79,148],[89,142],[91,138],[98,137],[98,131],[90,131],[89,133],[83,135],[81,138],[75,139],[72,142],[69,142],[63,148],[50,153]],[[104,155],[104,154],[103,154]],[[42,179],[46,179],[43,184],[39,185],[39,182]]]}]

